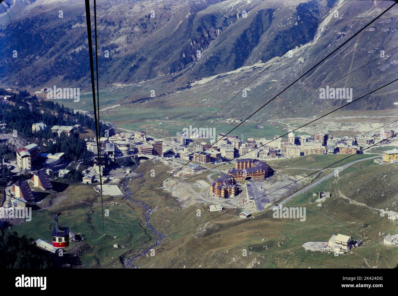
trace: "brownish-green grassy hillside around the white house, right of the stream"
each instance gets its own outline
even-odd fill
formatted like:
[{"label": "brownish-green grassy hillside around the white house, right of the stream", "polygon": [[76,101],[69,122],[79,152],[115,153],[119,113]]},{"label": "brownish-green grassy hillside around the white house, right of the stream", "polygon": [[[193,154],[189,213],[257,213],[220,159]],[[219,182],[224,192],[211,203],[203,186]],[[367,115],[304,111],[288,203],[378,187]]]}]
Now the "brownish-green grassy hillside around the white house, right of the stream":
[{"label": "brownish-green grassy hillside around the white house, right of the stream", "polygon": [[[314,163],[308,166],[313,166]],[[341,172],[338,179],[331,178],[309,192],[295,197],[285,206],[306,207],[306,221],[304,222],[298,219],[274,219],[272,211],[265,215],[255,214],[254,219],[243,221],[228,221],[226,215],[207,221],[211,219],[211,216],[203,217],[203,219],[195,218],[195,209],[201,209],[200,206],[182,209],[176,213],[170,210],[164,217],[159,215],[161,219],[158,221],[154,219],[155,225],[172,224],[174,230],[178,231],[182,225],[185,228],[192,226],[195,219],[196,224],[207,222],[178,232],[170,240],[164,240],[164,243],[156,248],[155,257],[141,257],[135,261],[135,264],[139,267],[175,268],[395,267],[398,263],[398,248],[380,244],[382,238],[377,238],[377,236],[379,232],[397,233],[396,222],[380,217],[377,211],[339,197],[337,192],[345,190],[352,179],[365,177],[373,180],[376,187],[383,187],[384,181],[388,182],[388,180],[375,180],[375,174],[384,176],[396,169],[396,165],[377,166],[373,164],[373,161],[365,161],[362,165],[354,164]],[[394,174],[391,178],[394,179]],[[332,197],[323,202],[322,207],[314,203],[319,191],[332,192]],[[371,192],[363,192],[363,195],[371,195]],[[390,194],[385,199],[386,204],[391,204],[396,200],[396,195]],[[162,198],[159,198],[158,203],[161,201]],[[223,217],[224,220],[220,220]],[[162,219],[168,219],[170,222],[164,222]],[[351,235],[365,244],[338,257],[334,254],[309,252],[302,248],[303,242],[328,241],[332,234],[338,233]],[[377,239],[367,243],[373,238]],[[243,249],[247,250],[246,257],[242,256]],[[382,258],[378,263],[376,263],[377,253]]]}]

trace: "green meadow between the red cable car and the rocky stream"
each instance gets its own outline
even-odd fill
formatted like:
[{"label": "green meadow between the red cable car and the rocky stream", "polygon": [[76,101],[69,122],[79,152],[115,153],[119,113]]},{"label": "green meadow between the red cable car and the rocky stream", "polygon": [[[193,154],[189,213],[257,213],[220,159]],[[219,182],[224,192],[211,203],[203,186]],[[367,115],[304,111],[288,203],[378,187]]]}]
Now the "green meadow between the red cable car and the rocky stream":
[{"label": "green meadow between the red cable car and the rocky stream", "polygon": [[[61,186],[58,184],[59,189]],[[112,201],[122,205],[111,205]],[[59,217],[59,225],[68,226],[74,234],[82,233],[84,242],[92,246],[82,256],[81,267],[104,268],[113,265],[119,267],[120,255],[127,250],[137,250],[141,247],[140,244],[154,239],[142,222],[142,208],[134,208],[136,206],[134,203],[125,201],[121,197],[104,196],[103,204],[104,209],[109,210],[109,217],[104,217],[104,229],[101,196],[90,185],[69,185],[57,196],[50,195],[39,204],[49,211],[61,213],[71,211]],[[33,211],[32,221],[14,226],[13,230],[35,240],[41,238],[51,242],[53,227],[54,221],[50,213]],[[115,236],[117,238],[114,238]],[[71,250],[76,244],[78,243],[71,243],[67,250]],[[115,249],[114,244],[118,244],[119,249]]]}]

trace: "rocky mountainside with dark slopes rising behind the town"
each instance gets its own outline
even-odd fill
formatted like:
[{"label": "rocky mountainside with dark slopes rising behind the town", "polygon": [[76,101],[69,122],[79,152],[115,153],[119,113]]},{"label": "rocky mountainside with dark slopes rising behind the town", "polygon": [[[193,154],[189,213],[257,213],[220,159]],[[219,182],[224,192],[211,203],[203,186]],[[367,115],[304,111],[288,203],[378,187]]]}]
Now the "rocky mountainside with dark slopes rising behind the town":
[{"label": "rocky mountainside with dark slopes rising behind the town", "polygon": [[[38,87],[57,83],[90,89],[84,2],[7,2],[39,78],[2,8],[0,34],[4,46],[0,48],[0,55],[4,62],[0,65],[0,84]],[[297,79],[392,4],[392,1],[342,2],[98,1],[100,86],[102,89],[114,85],[124,87],[123,96],[117,98],[124,104],[150,100],[156,105],[172,105],[185,98],[184,104],[196,106],[211,97],[218,98],[213,101],[217,107],[272,64],[250,83],[248,97],[231,102],[228,112],[234,108],[251,110],[260,106],[263,98],[272,97]],[[339,4],[338,15],[332,14],[317,25]],[[61,11],[62,18],[59,17]],[[284,96],[310,95],[377,58],[380,50],[392,50],[398,44],[397,11],[393,8],[384,14]],[[293,45],[293,55],[285,54],[278,59]],[[18,51],[18,58],[13,58],[13,50]],[[355,99],[394,79],[397,67],[398,58],[393,50],[355,75],[340,80],[335,87],[354,88]],[[156,98],[149,97],[152,89],[156,89]],[[392,108],[396,101],[395,87],[391,86],[352,107]],[[313,100],[300,112],[338,104],[341,100]],[[286,101],[275,102],[273,108],[281,109],[285,105]]]}]

